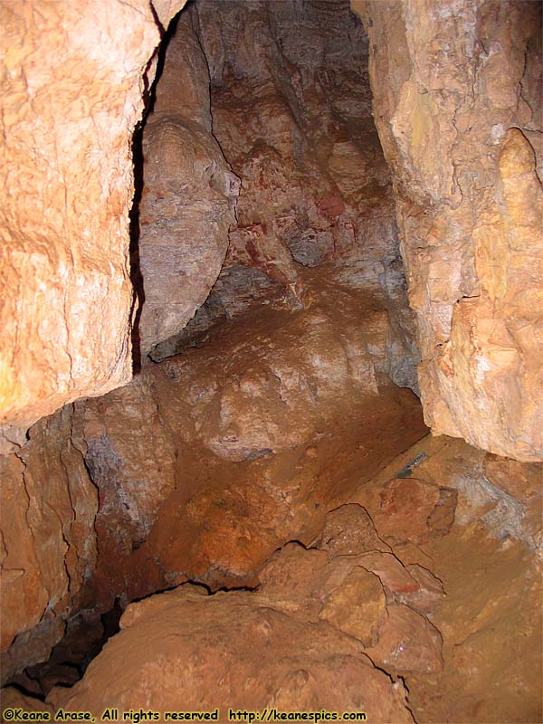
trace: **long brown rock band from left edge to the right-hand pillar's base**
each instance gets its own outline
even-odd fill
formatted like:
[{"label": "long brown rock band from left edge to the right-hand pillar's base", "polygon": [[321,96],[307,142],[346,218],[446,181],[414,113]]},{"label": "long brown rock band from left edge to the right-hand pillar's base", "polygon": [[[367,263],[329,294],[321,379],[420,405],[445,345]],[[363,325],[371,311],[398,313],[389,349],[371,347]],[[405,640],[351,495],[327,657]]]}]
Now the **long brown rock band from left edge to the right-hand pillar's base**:
[{"label": "long brown rock band from left edge to the right-hand pillar's base", "polygon": [[385,374],[386,310],[332,270],[310,277],[304,310],[225,324],[0,458],[5,677],[173,583],[255,581],[424,435],[417,398]]}]

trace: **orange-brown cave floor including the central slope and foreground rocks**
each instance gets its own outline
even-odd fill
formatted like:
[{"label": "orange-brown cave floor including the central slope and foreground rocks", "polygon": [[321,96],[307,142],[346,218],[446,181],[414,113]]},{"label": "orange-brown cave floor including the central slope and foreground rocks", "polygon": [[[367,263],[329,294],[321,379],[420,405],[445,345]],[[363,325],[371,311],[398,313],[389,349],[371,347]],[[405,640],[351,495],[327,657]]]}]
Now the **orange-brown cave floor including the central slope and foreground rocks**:
[{"label": "orange-brown cave floor including the central slope and foreground rocks", "polygon": [[[176,433],[176,486],[124,558],[118,510],[100,521],[112,533],[89,600],[141,599],[120,632],[72,687],[51,661],[33,672],[45,703],[11,687],[3,707],[541,721],[541,465],[426,434],[415,395],[372,372],[386,311],[315,278],[304,310],[234,320],[87,403],[87,431],[100,422],[140,470],[151,449],[122,415],[153,395]],[[12,683],[35,683],[24,676]]]}]

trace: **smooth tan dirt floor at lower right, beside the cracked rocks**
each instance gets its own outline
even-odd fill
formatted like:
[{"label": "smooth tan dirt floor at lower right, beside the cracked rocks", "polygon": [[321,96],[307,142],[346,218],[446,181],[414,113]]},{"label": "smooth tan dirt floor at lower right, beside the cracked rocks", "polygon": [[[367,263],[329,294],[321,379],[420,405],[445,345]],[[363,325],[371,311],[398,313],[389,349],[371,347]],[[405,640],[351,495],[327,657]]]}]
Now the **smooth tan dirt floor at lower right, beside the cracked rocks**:
[{"label": "smooth tan dirt floor at lower right, beside the cracked rocks", "polygon": [[351,499],[378,518],[386,481],[402,466],[408,479],[458,494],[444,535],[422,539],[408,500],[386,524],[404,532],[396,543],[385,537],[396,557],[431,570],[446,594],[427,614],[443,636],[443,671],[405,673],[419,724],[542,720],[541,466],[524,477],[519,463],[491,456],[508,492],[481,470],[484,457],[462,440],[428,435]]}]

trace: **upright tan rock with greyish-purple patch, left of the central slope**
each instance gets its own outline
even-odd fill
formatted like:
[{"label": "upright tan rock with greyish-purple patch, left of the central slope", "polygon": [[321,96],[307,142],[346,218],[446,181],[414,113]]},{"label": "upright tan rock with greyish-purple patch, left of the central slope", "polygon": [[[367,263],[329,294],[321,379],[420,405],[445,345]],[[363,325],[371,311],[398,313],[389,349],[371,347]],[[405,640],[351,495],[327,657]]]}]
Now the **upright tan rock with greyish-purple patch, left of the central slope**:
[{"label": "upright tan rock with greyish-purple patch, left of the central slope", "polygon": [[159,587],[157,576],[134,558],[176,488],[176,444],[144,374],[104,398],[78,403],[75,419],[100,495],[99,557],[87,599],[103,612],[116,597],[131,600]]}]

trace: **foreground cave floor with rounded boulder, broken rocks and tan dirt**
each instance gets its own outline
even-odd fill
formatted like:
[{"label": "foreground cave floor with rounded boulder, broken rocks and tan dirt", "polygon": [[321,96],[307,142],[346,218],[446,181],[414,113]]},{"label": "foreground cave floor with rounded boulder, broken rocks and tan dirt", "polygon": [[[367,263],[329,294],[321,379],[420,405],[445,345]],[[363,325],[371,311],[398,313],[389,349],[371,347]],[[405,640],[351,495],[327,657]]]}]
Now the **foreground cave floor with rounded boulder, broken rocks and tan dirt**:
[{"label": "foreground cave floor with rounded boulder, broken rocks and tan dirt", "polygon": [[[352,440],[345,443],[352,454]],[[338,452],[347,454],[347,450]],[[405,709],[386,709],[384,713],[376,684],[371,684],[372,689],[371,682],[365,680],[368,691],[362,699],[370,721],[395,724],[413,717],[418,724],[536,724],[542,711],[541,570],[537,555],[540,467],[523,468],[526,474],[517,476],[515,497],[511,489],[503,491],[491,482],[500,481],[504,473],[510,481],[515,477],[509,463],[492,456],[489,465],[485,453],[461,440],[425,436],[360,484],[350,500],[332,510],[308,545],[297,541],[276,551],[262,566],[262,583],[256,589],[206,595],[199,586],[185,584],[129,606],[123,616],[125,623],[121,621],[121,633],[113,636],[91,662],[83,680],[72,690],[54,688],[43,706],[98,711],[107,701],[119,705],[120,699],[120,706],[124,703],[127,710],[142,700],[144,691],[143,698],[160,709],[159,691],[168,690],[168,681],[175,674],[176,696],[187,706],[193,694],[196,700],[201,698],[202,709],[224,705],[219,693],[223,686],[225,700],[235,702],[237,696],[242,706],[245,701],[250,709],[249,691],[256,689],[260,703],[269,700],[269,691],[267,695],[262,691],[258,673],[254,673],[256,679],[247,680],[247,671],[258,672],[262,667],[269,686],[274,672],[281,669],[282,656],[278,658],[275,653],[270,663],[266,661],[269,644],[260,649],[257,634],[262,627],[271,626],[274,645],[280,652],[296,652],[299,671],[307,669],[316,676],[308,659],[313,644],[317,647],[320,642],[316,626],[324,620],[335,633],[348,634],[339,641],[345,655],[353,642],[359,646],[362,641],[363,658],[376,667],[372,671],[386,672],[386,680],[390,677],[390,681],[399,682],[405,691]],[[385,598],[378,604],[378,633],[370,625],[378,618],[375,590],[367,579],[353,577],[354,563],[364,567],[366,575],[371,572],[378,576],[386,592],[386,604]],[[336,567],[324,575],[330,565]],[[347,567],[350,573],[346,578]],[[420,588],[405,585],[405,576],[413,576]],[[410,580],[413,583],[413,578]],[[379,591],[382,596],[380,586]],[[327,605],[316,613],[325,599]],[[177,612],[180,605],[193,606],[188,623],[181,609],[182,623],[176,620],[171,624],[168,605],[172,601]],[[236,608],[239,605],[241,609]],[[353,606],[357,611],[354,618]],[[408,608],[412,618],[394,617],[395,612]],[[284,625],[276,626],[271,619],[262,624],[258,617],[262,618],[264,611],[273,614],[271,619],[286,612],[291,619],[309,622],[313,643],[303,638],[303,631],[285,633]],[[387,616],[385,624],[383,614]],[[140,619],[143,624],[138,623]],[[153,626],[162,650],[158,669],[149,680],[146,667],[155,642]],[[130,648],[132,631],[137,643]],[[329,643],[320,645],[326,648]],[[183,661],[191,661],[184,670],[184,680],[176,670],[181,664],[172,665],[172,651]],[[127,685],[123,674],[116,684],[116,677],[111,676],[113,669],[123,669],[127,656],[140,664],[143,683],[131,681]],[[219,680],[219,662],[224,659],[228,674],[222,672]],[[348,674],[336,666],[325,671],[320,700],[322,703],[322,697],[329,696],[329,710],[334,710],[332,690],[341,688],[346,677]],[[275,691],[275,705],[283,710],[310,709],[310,703],[304,704],[307,682],[289,681],[287,694],[284,686]],[[134,693],[126,700],[130,688]],[[100,700],[102,691],[106,693]],[[5,690],[3,698],[3,705],[14,701],[30,706],[14,690]]]}]

